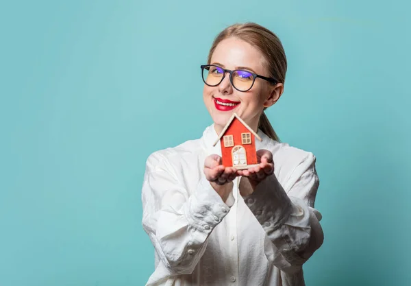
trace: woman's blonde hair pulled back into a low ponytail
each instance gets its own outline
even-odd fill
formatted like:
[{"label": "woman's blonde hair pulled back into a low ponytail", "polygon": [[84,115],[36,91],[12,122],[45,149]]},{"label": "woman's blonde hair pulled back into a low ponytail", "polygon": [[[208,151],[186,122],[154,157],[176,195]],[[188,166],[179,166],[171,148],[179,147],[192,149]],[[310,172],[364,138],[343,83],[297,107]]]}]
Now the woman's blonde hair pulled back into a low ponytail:
[{"label": "woman's blonde hair pulled back into a low ponytail", "polygon": [[[267,69],[269,76],[284,84],[286,80],[287,59],[282,43],[277,35],[256,23],[236,23],[223,29],[212,43],[210,52],[208,53],[208,64],[211,62],[212,53],[214,53],[217,45],[229,37],[239,38],[259,49],[268,63]],[[265,109],[266,108],[264,108],[264,110]],[[258,128],[271,139],[279,142],[279,137],[275,133],[264,111],[260,116]]]}]

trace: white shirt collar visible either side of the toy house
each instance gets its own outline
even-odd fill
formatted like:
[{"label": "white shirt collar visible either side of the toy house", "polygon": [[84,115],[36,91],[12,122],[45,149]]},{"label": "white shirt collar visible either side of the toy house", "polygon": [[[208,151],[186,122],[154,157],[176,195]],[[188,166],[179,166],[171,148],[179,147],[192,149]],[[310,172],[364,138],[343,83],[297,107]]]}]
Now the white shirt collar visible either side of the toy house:
[{"label": "white shirt collar visible either side of the toy house", "polygon": [[[257,130],[258,136],[262,139],[262,141],[256,139],[256,150],[261,150],[261,149],[268,149],[269,145],[272,144],[271,141],[273,141],[269,136],[264,134],[260,128]],[[208,155],[210,154],[217,154],[221,156],[221,144],[217,143],[215,146],[213,146],[214,142],[219,138],[219,134],[217,134],[216,130],[214,129],[214,123],[212,125],[208,126],[206,130],[203,132],[203,145],[206,147]]]}]

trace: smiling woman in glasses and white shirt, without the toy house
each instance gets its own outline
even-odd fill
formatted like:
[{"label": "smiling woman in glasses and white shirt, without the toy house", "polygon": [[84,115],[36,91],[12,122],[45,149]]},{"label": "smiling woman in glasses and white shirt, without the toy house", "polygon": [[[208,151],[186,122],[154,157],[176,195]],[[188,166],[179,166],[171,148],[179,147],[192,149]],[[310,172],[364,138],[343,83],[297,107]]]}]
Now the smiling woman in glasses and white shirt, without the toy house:
[{"label": "smiling woman in glasses and white shirt, without the toy house", "polygon": [[[201,66],[214,123],[201,139],[147,159],[142,226],[155,248],[147,285],[304,285],[302,265],[323,243],[316,159],[279,143],[264,115],[284,91],[286,67],[279,39],[260,25],[215,38]],[[234,112],[262,139],[258,166],[221,165],[214,141]]]}]

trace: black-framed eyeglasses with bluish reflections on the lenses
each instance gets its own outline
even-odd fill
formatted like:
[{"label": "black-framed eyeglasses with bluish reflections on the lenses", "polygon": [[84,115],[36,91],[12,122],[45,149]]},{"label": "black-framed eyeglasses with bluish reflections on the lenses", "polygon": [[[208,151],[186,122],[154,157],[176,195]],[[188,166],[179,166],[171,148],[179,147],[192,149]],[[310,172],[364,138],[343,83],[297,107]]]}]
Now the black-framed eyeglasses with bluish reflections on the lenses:
[{"label": "black-framed eyeglasses with bluish reflections on the lenses", "polygon": [[203,64],[201,65],[201,75],[203,82],[208,86],[218,86],[225,78],[225,73],[229,73],[229,81],[237,91],[249,91],[253,87],[256,78],[261,78],[267,82],[277,84],[278,81],[274,78],[266,78],[257,73],[251,73],[251,71],[245,71],[243,69],[236,69],[231,71],[229,69],[223,69],[215,64]]}]

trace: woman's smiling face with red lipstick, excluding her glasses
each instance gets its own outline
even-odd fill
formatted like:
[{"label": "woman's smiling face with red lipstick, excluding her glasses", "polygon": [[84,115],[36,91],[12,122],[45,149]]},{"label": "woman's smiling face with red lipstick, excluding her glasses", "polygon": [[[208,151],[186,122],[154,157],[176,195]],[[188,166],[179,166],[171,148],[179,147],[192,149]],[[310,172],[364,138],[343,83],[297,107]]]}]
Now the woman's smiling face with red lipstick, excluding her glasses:
[{"label": "woman's smiling face with red lipstick, excluding her glasses", "polygon": [[[230,70],[244,69],[269,77],[262,53],[238,38],[222,40],[214,50],[210,64]],[[218,133],[223,130],[234,112],[253,130],[257,130],[258,120],[264,108],[277,102],[282,94],[282,88],[282,84],[273,85],[256,78],[249,91],[237,91],[229,81],[229,73],[226,73],[218,86],[204,84],[203,100]]]}]

